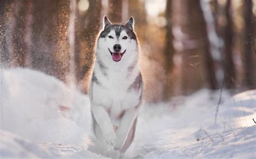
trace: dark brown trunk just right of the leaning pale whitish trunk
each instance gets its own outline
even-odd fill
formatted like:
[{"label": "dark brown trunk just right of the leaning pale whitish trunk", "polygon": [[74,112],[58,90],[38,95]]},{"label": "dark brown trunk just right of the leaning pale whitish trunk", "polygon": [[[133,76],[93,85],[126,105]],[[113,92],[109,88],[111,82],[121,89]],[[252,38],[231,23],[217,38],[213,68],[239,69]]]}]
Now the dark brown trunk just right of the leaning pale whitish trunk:
[{"label": "dark brown trunk just right of the leaning pale whitish trunk", "polygon": [[233,60],[233,23],[232,23],[232,12],[231,12],[231,0],[227,0],[225,6],[225,17],[227,24],[224,28],[224,79],[225,87],[227,89],[232,89],[235,87],[235,66]]}]

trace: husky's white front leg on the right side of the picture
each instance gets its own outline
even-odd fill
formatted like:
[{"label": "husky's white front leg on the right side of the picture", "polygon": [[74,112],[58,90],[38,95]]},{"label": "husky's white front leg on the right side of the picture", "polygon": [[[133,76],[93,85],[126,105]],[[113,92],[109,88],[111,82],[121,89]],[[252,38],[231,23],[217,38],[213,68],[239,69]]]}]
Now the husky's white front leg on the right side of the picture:
[{"label": "husky's white front leg on the right side of the picture", "polygon": [[114,144],[114,149],[119,150],[124,146],[124,142],[127,138],[127,135],[130,131],[130,128],[133,124],[133,121],[137,115],[137,109],[132,108],[129,110],[126,110],[124,112],[123,118],[120,121],[120,125],[117,129],[117,138],[116,138],[116,144]]}]

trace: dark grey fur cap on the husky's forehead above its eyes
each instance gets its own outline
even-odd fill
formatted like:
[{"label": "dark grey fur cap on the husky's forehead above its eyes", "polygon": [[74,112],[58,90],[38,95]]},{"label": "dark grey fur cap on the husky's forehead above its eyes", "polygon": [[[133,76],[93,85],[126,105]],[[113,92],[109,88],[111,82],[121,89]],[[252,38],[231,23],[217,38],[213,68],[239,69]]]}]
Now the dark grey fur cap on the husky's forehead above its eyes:
[{"label": "dark grey fur cap on the husky's forehead above its eyes", "polygon": [[136,34],[132,30],[130,30],[127,26],[125,26],[123,24],[113,24],[113,25],[105,26],[104,30],[100,33],[99,37],[100,38],[105,38],[107,36],[107,34],[109,34],[110,31],[112,31],[112,30],[114,30],[117,37],[120,37],[120,33],[125,30],[126,34],[131,39],[134,39],[134,40],[137,41]]}]

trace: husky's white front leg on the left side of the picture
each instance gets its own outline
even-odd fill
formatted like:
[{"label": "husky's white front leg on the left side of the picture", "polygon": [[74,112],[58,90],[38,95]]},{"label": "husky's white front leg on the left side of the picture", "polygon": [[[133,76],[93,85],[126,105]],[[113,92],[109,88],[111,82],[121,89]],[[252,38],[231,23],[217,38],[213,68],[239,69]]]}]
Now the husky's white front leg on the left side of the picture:
[{"label": "husky's white front leg on the left side of the picture", "polygon": [[100,129],[102,130],[103,137],[107,144],[114,146],[116,142],[116,134],[114,133],[113,125],[103,106],[92,105],[92,114],[95,117],[95,120],[99,124]]}]

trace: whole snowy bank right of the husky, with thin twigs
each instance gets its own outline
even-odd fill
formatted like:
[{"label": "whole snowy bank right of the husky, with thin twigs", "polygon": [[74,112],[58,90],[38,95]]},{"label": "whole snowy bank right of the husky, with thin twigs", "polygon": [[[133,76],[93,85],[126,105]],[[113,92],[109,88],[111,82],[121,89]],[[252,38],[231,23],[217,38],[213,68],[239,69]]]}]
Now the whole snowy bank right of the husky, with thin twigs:
[{"label": "whole snowy bank right of the husky, with thin twigs", "polygon": [[[219,91],[200,90],[170,103],[149,104],[138,120],[129,155],[145,158],[255,158],[256,90],[230,98],[224,90],[217,123]],[[242,110],[246,110],[243,112]],[[244,124],[242,124],[244,123]]]}]

